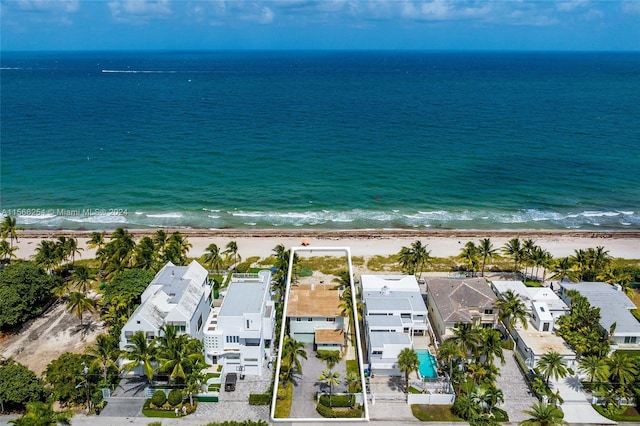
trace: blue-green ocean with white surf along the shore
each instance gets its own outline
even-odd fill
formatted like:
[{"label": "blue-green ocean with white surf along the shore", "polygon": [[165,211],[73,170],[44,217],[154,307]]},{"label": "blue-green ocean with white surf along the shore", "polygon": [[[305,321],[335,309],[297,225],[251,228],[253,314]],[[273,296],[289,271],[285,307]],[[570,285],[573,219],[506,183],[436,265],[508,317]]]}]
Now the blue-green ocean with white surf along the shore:
[{"label": "blue-green ocean with white surf along the shore", "polygon": [[640,229],[640,53],[0,62],[25,229]]}]

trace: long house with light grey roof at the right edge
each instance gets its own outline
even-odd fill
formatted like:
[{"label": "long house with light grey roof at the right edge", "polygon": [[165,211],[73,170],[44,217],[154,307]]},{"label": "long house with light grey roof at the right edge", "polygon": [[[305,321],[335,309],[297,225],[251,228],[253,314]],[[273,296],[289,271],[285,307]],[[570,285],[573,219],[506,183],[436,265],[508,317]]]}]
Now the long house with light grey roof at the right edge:
[{"label": "long house with light grey roof at the right edge", "polygon": [[560,297],[571,305],[569,290],[575,290],[584,296],[589,304],[600,308],[600,326],[609,333],[615,323],[611,336],[612,345],[616,349],[640,350],[640,322],[631,314],[636,305],[619,287],[603,282],[560,282]]}]

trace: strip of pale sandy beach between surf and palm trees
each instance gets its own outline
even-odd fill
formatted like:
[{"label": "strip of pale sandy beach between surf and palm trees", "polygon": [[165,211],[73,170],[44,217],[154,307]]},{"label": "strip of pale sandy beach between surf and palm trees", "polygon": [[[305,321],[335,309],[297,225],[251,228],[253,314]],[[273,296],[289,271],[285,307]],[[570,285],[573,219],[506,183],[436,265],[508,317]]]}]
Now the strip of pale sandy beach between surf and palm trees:
[{"label": "strip of pale sandy beach between surf and palm trees", "polygon": [[[416,240],[427,245],[433,257],[456,256],[468,241],[478,242],[483,238],[491,238],[496,248],[502,247],[509,239],[533,239],[537,245],[548,250],[554,257],[565,257],[574,254],[577,249],[603,246],[613,257],[640,259],[640,231],[485,231],[485,230],[193,230],[176,229],[192,244],[190,257],[199,257],[205,253],[206,247],[215,243],[224,249],[229,241],[238,245],[238,253],[243,257],[268,257],[278,244],[285,247],[300,246],[302,240],[309,242],[309,247],[349,247],[353,256],[365,258],[381,255],[388,256],[408,247]],[[176,231],[165,229],[167,233]],[[136,239],[150,235],[155,230],[130,230]],[[111,231],[106,232],[105,239]],[[76,237],[78,246],[84,250],[80,258],[95,256],[95,249],[87,248],[89,231],[19,231],[19,247],[16,256],[29,259],[43,239],[55,239],[58,236]]]}]

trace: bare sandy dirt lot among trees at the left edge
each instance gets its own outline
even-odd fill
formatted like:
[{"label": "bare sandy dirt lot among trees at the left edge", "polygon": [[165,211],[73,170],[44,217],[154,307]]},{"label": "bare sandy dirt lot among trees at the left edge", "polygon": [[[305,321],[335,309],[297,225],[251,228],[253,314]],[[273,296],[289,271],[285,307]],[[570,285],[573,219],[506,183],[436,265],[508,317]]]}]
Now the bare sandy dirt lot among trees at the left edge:
[{"label": "bare sandy dirt lot among trees at the left edge", "polygon": [[17,333],[0,342],[0,356],[13,357],[40,375],[47,364],[65,352],[82,353],[104,331],[98,314],[85,314],[80,320],[56,303],[38,318],[26,323]]}]

